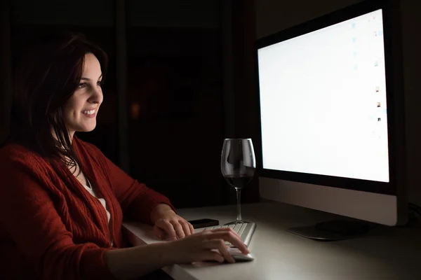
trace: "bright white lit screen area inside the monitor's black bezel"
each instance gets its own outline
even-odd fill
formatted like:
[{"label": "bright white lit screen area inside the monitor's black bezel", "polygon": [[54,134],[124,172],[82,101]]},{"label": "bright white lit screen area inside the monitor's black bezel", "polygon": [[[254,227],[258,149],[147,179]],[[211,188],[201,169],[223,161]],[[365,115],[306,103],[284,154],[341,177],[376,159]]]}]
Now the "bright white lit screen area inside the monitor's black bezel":
[{"label": "bright white lit screen area inside the monitor's black bezel", "polygon": [[258,50],[263,168],[389,182],[382,10]]}]

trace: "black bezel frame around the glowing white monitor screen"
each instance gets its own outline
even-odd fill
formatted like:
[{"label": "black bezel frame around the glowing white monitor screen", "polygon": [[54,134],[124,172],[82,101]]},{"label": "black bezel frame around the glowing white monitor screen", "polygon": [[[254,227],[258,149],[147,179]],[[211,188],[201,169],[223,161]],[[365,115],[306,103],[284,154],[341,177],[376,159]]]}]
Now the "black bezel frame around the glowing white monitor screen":
[{"label": "black bezel frame around the glowing white monitor screen", "polygon": [[[388,130],[388,148],[389,148],[389,182],[369,181],[363,179],[351,179],[338,176],[326,176],[319,174],[306,174],[301,172],[286,172],[272,169],[264,169],[262,167],[262,127],[260,116],[260,87],[258,73],[258,50],[274,43],[286,41],[290,38],[301,36],[330,25],[335,25],[345,20],[356,18],[360,15],[382,9],[383,18],[383,39],[385,46],[385,73],[387,87],[387,130]],[[256,59],[256,76],[257,76],[257,104],[258,104],[258,139],[255,141],[256,157],[258,158],[257,169],[259,176],[281,179],[286,181],[295,181],[300,183],[309,183],[314,185],[329,186],[335,188],[344,188],[348,190],[361,190],[369,193],[379,193],[385,195],[399,195],[399,188],[404,184],[405,172],[405,141],[404,141],[404,109],[403,94],[398,94],[401,90],[401,77],[399,71],[395,71],[394,55],[396,56],[396,37],[392,34],[392,7],[389,1],[363,1],[352,6],[336,10],[333,13],[323,15],[319,18],[309,20],[295,27],[284,29],[275,34],[265,36],[256,41],[255,59]],[[396,64],[396,63],[395,63]]]}]

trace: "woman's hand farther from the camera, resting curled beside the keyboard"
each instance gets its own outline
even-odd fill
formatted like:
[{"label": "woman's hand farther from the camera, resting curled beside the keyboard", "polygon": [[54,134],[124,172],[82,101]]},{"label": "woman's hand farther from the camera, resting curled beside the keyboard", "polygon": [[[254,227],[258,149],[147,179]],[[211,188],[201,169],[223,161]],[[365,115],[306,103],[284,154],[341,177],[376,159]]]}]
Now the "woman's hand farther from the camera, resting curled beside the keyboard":
[{"label": "woman's hand farther from the camera, resting curled beside the keyboard", "polygon": [[175,240],[194,233],[193,225],[181,218],[167,204],[159,204],[152,209],[151,220],[159,239]]}]

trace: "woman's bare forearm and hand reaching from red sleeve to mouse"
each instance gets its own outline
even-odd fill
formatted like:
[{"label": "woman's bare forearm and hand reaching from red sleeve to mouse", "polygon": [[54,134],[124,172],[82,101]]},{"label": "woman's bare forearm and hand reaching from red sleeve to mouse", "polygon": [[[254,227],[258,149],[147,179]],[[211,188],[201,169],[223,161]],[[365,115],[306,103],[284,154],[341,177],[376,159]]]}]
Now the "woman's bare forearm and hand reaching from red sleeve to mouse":
[{"label": "woman's bare forearm and hand reaching from red sleeve to mouse", "polygon": [[107,251],[105,263],[117,279],[135,279],[166,265],[203,260],[234,262],[225,241],[248,249],[231,228],[205,230],[183,239]]}]

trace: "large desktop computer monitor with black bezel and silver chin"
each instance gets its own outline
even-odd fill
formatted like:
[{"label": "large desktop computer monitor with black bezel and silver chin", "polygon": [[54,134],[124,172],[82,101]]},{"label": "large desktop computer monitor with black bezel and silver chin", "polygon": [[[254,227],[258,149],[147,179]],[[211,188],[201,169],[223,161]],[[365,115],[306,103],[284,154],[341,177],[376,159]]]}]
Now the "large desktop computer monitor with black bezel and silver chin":
[{"label": "large desktop computer monitor with black bezel and silver chin", "polygon": [[260,196],[406,223],[399,32],[366,1],[257,41]]}]

